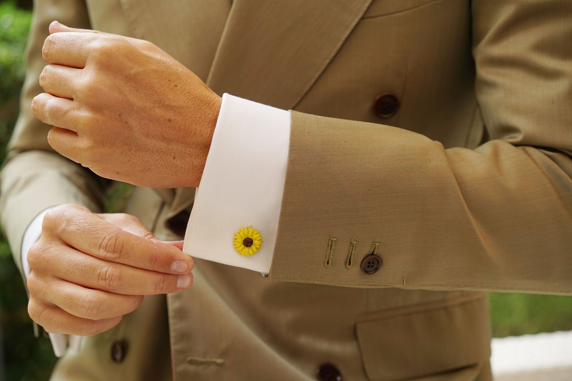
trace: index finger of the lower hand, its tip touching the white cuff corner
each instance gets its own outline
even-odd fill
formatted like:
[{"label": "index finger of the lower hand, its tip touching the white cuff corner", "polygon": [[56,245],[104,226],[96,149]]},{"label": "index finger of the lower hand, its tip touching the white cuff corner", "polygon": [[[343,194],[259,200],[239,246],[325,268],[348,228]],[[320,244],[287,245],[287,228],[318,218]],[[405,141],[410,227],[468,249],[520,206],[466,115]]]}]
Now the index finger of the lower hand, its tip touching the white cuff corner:
[{"label": "index finger of the lower hand, its tip touching the white cuff corner", "polygon": [[193,267],[192,258],[176,247],[123,231],[88,209],[54,208],[49,216],[54,214],[59,220],[58,236],[96,258],[172,274],[187,273]]}]

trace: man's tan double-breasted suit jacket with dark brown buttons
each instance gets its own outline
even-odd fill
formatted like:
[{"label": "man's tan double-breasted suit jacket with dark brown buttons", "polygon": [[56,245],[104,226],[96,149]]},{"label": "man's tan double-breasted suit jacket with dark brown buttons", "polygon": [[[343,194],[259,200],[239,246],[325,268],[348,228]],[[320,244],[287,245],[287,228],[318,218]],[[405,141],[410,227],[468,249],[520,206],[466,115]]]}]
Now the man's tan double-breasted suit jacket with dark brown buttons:
[{"label": "man's tan double-breasted suit jacket with dark brown buttons", "polygon": [[[17,263],[39,211],[98,211],[106,184],[29,111],[54,19],[295,110],[268,279],[196,260],[192,287],[146,297],[54,380],[313,380],[324,363],[343,380],[490,380],[481,290],[572,293],[569,0],[38,0],[2,170]],[[126,212],[174,239],[192,195],[136,188]]]}]

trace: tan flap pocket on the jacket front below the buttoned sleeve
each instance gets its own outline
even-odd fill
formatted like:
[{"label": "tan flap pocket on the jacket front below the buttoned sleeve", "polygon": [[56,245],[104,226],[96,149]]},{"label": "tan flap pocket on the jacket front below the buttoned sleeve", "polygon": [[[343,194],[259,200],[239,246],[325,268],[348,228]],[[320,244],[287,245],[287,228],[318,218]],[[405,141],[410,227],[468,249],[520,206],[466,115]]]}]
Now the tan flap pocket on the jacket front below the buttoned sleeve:
[{"label": "tan flap pocket on the jacket front below the buttoned sleeve", "polygon": [[[363,315],[356,323],[356,335],[372,381],[444,372],[451,376],[443,379],[471,380],[479,363],[490,357],[487,303],[480,293]],[[459,372],[467,378],[456,377]]]}]

